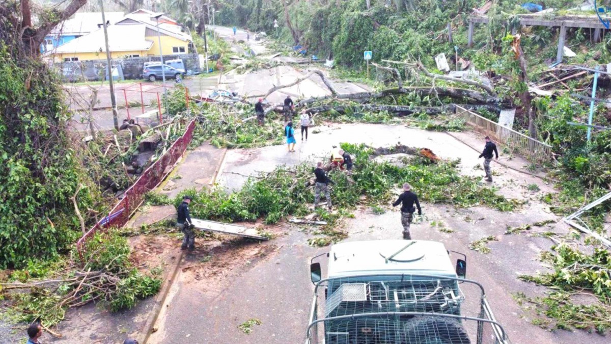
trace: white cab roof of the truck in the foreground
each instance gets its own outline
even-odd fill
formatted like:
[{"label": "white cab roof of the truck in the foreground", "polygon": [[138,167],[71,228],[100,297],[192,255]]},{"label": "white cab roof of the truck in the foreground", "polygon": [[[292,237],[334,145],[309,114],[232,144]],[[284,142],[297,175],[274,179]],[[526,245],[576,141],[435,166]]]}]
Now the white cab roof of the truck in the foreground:
[{"label": "white cab roof of the truck in the foreground", "polygon": [[[404,249],[411,242],[413,244]],[[441,242],[373,240],[343,242],[331,247],[327,270],[329,279],[375,274],[456,277],[456,271]]]}]

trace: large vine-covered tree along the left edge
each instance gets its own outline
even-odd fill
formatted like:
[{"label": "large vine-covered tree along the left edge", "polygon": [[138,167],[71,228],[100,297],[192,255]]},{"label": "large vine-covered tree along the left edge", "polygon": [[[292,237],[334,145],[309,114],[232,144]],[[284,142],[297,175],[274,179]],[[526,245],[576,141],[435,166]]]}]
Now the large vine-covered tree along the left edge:
[{"label": "large vine-covered tree along the left edge", "polygon": [[92,182],[67,129],[59,81],[37,57],[46,34],[85,2],[42,13],[27,0],[0,4],[0,267],[56,256],[81,232],[75,204],[93,208],[95,188],[79,190]]}]

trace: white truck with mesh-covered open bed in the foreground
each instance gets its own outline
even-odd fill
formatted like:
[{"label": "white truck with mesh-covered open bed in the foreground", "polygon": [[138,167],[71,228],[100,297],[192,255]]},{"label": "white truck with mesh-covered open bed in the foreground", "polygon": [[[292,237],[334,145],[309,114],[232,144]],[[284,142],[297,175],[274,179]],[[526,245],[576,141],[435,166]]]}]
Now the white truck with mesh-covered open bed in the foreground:
[{"label": "white truck with mesh-covered open bed in the foreground", "polygon": [[483,286],[465,279],[466,256],[441,242],[345,242],[326,255],[326,279],[322,255],[310,265],[305,344],[510,344]]}]

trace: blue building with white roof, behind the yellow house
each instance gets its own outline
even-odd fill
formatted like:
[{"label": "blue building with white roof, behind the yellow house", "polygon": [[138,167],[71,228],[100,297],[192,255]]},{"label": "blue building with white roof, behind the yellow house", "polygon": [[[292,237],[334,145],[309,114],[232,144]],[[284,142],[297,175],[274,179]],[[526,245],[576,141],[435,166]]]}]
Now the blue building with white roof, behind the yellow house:
[{"label": "blue building with white roof, behind the yellow house", "polygon": [[[114,24],[122,20],[123,12],[104,12],[106,21]],[[51,33],[45,37],[40,45],[40,52],[47,53],[54,48],[64,45],[73,39],[93,32],[103,25],[101,12],[78,12],[74,17],[58,24]]]}]

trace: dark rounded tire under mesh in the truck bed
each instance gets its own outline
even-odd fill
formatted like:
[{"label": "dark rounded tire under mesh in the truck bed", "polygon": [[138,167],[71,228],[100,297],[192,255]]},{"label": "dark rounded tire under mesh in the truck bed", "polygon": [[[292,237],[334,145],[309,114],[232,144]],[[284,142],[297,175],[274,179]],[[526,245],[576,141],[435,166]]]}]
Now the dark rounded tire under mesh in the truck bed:
[{"label": "dark rounded tire under mesh in the truck bed", "polygon": [[470,344],[463,325],[443,316],[418,316],[405,323],[404,343]]}]

